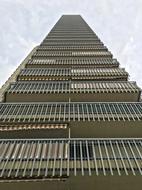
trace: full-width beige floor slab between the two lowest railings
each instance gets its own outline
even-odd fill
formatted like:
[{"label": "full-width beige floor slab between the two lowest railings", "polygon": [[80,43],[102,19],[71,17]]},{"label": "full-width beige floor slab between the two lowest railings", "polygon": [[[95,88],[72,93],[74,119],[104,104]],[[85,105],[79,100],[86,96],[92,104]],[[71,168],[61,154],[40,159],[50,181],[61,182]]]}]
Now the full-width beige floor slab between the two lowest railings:
[{"label": "full-width beige floor slab between the two lowest railings", "polygon": [[[51,124],[51,123],[50,123]],[[62,123],[60,123],[61,125]],[[25,125],[27,128],[25,128]],[[130,138],[142,137],[142,121],[70,121],[66,129],[43,128],[48,123],[0,124],[0,138]],[[54,125],[54,122],[51,124]],[[29,127],[28,127],[29,126]]]}]

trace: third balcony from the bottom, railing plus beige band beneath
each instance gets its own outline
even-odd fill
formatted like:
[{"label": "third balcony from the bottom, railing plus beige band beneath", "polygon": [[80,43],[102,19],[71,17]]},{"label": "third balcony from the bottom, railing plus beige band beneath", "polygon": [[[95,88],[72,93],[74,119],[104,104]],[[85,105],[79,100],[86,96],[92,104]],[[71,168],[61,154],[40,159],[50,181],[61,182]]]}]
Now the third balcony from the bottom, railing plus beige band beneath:
[{"label": "third balcony from the bottom, railing plus beige band beneath", "polygon": [[6,102],[137,102],[140,89],[133,82],[16,82],[5,93]]}]

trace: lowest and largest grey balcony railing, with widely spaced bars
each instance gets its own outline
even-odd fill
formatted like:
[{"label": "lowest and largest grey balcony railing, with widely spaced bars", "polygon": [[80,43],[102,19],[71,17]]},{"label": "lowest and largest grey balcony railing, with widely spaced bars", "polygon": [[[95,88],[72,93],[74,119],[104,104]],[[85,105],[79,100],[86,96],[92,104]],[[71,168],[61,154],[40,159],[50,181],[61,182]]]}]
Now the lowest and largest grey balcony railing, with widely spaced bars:
[{"label": "lowest and largest grey balcony railing, with widely spaced bars", "polygon": [[141,176],[141,152],[142,139],[3,139],[0,179]]}]

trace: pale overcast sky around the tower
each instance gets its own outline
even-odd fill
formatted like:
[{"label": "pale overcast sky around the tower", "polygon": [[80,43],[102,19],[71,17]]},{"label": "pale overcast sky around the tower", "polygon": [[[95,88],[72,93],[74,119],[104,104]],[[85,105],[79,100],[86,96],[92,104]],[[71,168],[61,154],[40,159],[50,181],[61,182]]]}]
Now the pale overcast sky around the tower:
[{"label": "pale overcast sky around the tower", "polygon": [[0,86],[62,14],[81,14],[142,87],[142,0],[0,0]]}]

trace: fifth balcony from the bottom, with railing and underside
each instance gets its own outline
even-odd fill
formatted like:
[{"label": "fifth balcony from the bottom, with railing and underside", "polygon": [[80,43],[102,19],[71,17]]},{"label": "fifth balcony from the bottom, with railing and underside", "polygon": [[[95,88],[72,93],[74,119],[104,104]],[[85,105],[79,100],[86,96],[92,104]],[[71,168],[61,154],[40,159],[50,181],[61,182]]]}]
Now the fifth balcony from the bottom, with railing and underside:
[{"label": "fifth balcony from the bottom, with railing and underside", "polygon": [[115,59],[111,58],[33,58],[26,64],[27,68],[69,68],[72,66],[89,66],[89,67],[105,67],[116,68],[119,63]]}]

